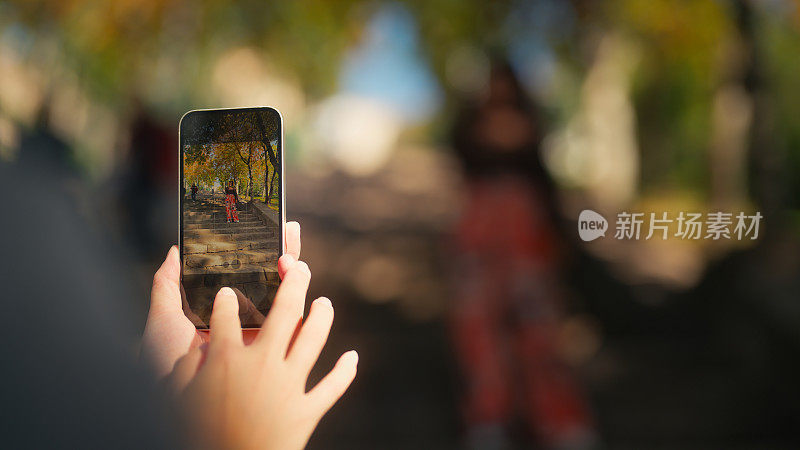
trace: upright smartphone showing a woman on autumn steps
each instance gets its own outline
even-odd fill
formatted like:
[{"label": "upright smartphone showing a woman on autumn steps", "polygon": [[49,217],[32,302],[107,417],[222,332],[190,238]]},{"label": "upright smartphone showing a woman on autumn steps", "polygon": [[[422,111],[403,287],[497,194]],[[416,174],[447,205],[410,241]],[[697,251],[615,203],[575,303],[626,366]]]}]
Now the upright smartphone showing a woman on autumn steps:
[{"label": "upright smartphone showing a woman on autumn steps", "polygon": [[217,292],[258,328],[278,290],[284,243],[283,118],[270,107],[189,111],[179,124],[181,296],[209,327]]}]

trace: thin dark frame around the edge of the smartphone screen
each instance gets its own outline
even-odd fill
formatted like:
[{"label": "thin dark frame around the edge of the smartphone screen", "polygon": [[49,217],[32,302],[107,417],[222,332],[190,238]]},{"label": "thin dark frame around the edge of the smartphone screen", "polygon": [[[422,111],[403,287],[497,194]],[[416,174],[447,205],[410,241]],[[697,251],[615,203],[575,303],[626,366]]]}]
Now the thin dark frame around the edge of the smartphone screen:
[{"label": "thin dark frame around the edge of the smartphone screen", "polygon": [[[181,139],[181,129],[183,128],[183,119],[186,116],[193,114],[193,113],[218,113],[221,111],[253,111],[253,110],[272,110],[277,113],[278,118],[280,119],[280,140],[278,141],[278,152],[279,152],[279,162],[280,162],[280,196],[279,196],[279,205],[278,205],[278,213],[280,215],[280,227],[279,230],[279,238],[278,242],[280,245],[278,246],[278,257],[280,258],[286,253],[286,171],[284,170],[284,127],[283,127],[283,115],[281,112],[272,106],[252,106],[252,107],[240,107],[240,108],[205,108],[205,109],[193,109],[191,111],[185,112],[181,119],[178,121],[178,167],[180,170],[180,176],[178,177],[178,250],[180,253],[181,258],[181,283],[183,283],[183,197],[184,194],[182,192],[183,188],[183,141]],[[185,294],[183,294],[185,295]],[[209,327],[200,327],[195,324],[195,328],[198,330],[208,330]],[[243,330],[258,330],[260,327],[242,327]]]}]

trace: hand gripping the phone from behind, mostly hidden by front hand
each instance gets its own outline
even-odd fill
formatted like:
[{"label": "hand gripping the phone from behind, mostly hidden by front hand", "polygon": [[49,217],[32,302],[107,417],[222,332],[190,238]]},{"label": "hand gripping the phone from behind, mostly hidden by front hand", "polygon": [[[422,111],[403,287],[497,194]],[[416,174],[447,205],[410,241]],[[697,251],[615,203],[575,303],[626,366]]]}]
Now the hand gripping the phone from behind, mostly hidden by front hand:
[{"label": "hand gripping the phone from behind, mostly hidden by front hand", "polygon": [[[300,224],[286,223],[286,254],[300,257]],[[287,267],[278,260],[278,275],[283,278]],[[208,333],[198,331],[184,313],[181,300],[181,262],[178,247],[173,246],[153,277],[150,312],[142,337],[141,356],[149,360],[159,378],[163,378],[183,355],[208,341]],[[186,308],[188,311],[188,307]],[[199,319],[197,319],[199,320]],[[247,331],[245,340],[251,342],[256,332]]]}]

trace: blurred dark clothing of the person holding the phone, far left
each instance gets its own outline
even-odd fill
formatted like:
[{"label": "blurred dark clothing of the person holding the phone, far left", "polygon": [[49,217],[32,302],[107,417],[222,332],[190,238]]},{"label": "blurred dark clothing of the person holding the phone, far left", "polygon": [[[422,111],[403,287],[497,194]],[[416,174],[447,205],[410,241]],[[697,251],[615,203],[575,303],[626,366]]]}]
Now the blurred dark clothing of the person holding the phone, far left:
[{"label": "blurred dark clothing of the person holding the phone, far left", "polygon": [[[31,142],[33,141],[33,142]],[[175,448],[165,398],[136,361],[146,298],[122,253],[83,220],[78,182],[23,139],[0,161],[8,220],[0,220],[0,390],[5,448]],[[24,195],[22,193],[25,193]]]}]

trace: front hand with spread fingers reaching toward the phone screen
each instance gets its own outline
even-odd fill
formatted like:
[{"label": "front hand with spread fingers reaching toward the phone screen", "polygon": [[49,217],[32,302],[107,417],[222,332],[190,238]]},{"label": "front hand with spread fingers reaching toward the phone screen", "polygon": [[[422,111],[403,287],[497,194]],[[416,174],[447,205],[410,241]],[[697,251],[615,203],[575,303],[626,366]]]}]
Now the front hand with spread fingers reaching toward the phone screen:
[{"label": "front hand with spread fingers reaching toward the phone screen", "polygon": [[175,366],[170,380],[183,392],[198,444],[302,449],[356,375],[358,354],[349,351],[306,392],[308,374],[333,323],[333,307],[326,298],[315,300],[293,340],[311,272],[291,255],[281,259],[290,267],[255,341],[244,345],[236,294],[222,288],[211,312],[208,346],[193,349]]}]

